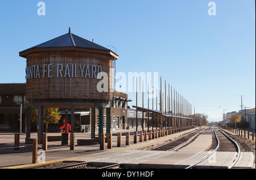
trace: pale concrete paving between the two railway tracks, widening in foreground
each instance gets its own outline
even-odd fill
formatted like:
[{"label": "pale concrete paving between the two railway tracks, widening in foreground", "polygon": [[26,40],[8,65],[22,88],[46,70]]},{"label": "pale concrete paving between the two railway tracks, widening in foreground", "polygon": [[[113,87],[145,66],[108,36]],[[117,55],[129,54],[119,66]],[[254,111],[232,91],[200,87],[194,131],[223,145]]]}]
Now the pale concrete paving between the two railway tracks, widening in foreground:
[{"label": "pale concrete paving between the two railway tracks, widening in foreground", "polygon": [[177,151],[125,150],[109,154],[76,158],[76,161],[91,161],[96,166],[122,163],[125,168],[185,168],[207,155],[212,145],[212,135],[200,135],[191,144]]}]

